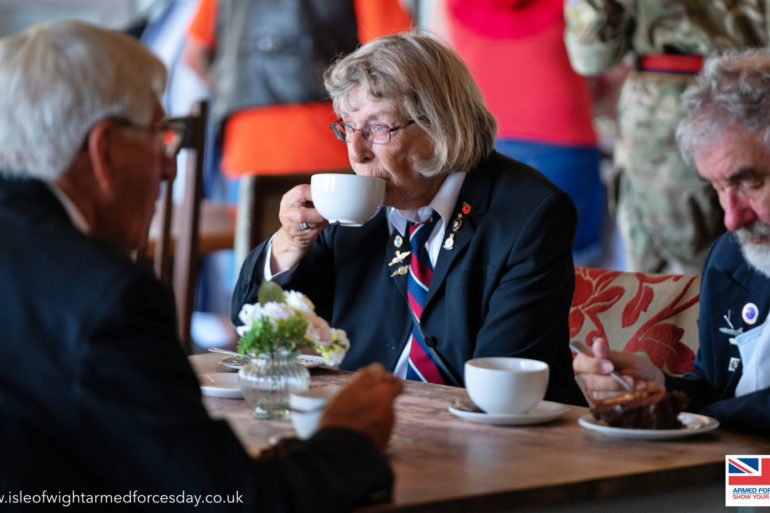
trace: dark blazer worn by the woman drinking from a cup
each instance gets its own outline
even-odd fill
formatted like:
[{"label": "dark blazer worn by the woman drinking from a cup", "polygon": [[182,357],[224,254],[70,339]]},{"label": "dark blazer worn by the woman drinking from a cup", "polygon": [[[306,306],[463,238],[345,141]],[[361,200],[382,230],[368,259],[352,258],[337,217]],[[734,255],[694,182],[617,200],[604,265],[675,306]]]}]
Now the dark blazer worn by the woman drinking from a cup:
[{"label": "dark blazer worn by the woman drinking from a cup", "polygon": [[[426,340],[433,337],[451,374],[442,372],[444,382],[462,386],[470,358],[534,358],[550,365],[547,399],[583,404],[568,348],[572,201],[534,169],[493,153],[468,173],[452,219],[466,204],[470,212],[454,247],[439,253],[421,319]],[[407,342],[407,276],[391,277],[396,267],[388,266],[395,235],[385,209],[360,228],[330,226],[286,283],[347,331],[351,347],[343,368],[382,362],[393,369]],[[258,246],[241,269],[233,322],[239,323],[241,305],[256,301],[265,248]]]}]

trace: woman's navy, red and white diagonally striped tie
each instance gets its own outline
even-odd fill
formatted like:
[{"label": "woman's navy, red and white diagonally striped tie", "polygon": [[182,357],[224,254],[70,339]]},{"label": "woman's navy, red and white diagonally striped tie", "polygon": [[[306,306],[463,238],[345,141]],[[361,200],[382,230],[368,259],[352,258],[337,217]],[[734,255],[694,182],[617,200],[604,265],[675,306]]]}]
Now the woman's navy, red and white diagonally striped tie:
[{"label": "woman's navy, red and white diagonally striped tie", "polygon": [[[438,212],[434,211],[430,220],[414,225],[410,223],[408,227],[412,256],[409,259],[409,278],[406,285],[406,295],[409,301],[409,308],[412,309],[417,320],[422,315],[425,298],[430,287],[430,280],[433,277],[433,266],[428,257],[428,250],[425,249],[425,242],[428,240],[439,218]],[[406,370],[406,378],[414,381],[443,384],[444,380],[441,379],[441,374],[439,374],[436,364],[429,356],[430,352],[416,323],[412,326],[410,342],[409,367]]]}]

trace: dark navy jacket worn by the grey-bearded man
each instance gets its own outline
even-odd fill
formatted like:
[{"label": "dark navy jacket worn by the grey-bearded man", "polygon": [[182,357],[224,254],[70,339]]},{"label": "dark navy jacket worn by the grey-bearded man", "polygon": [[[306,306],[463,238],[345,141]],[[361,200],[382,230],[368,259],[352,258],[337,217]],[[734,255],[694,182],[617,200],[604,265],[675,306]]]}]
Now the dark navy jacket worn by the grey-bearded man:
[{"label": "dark navy jacket worn by the grey-bearded man", "polygon": [[[759,310],[753,325],[741,315],[747,303],[754,303]],[[700,410],[728,428],[770,434],[770,390],[734,397],[742,370],[740,352],[730,343],[734,335],[720,331],[752,329],[762,323],[768,308],[770,278],[749,266],[732,233],[723,234],[711,247],[703,269],[695,370],[681,378],[666,379],[668,388],[687,392],[688,410]]]}]

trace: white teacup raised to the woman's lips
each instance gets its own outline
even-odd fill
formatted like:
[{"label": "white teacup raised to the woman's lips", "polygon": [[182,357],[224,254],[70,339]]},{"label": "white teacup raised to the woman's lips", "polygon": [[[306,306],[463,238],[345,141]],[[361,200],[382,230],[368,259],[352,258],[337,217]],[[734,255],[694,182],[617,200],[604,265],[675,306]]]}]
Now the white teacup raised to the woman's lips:
[{"label": "white teacup raised to the woman's lips", "polygon": [[310,177],[310,194],[318,213],[331,224],[361,226],[385,200],[385,180],[371,176],[322,173]]}]

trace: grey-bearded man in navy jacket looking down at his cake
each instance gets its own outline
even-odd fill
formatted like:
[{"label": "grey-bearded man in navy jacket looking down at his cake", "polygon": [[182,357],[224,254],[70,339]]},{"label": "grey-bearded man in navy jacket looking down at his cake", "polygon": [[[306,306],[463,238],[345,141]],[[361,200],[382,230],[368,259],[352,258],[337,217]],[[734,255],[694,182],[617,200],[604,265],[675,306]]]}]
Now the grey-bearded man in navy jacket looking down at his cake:
[{"label": "grey-bearded man in navy jacket looking down at his cake", "polygon": [[[723,427],[768,434],[770,426],[770,52],[726,53],[706,61],[682,95],[687,116],[677,140],[685,158],[714,187],[730,230],[712,246],[700,290],[695,369],[665,375],[638,355],[593,344],[578,356],[589,396],[620,388],[615,370],[636,386],[683,390],[689,411]],[[764,322],[763,322],[764,321]]]}]

